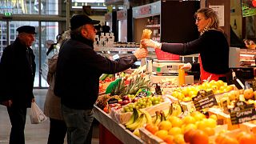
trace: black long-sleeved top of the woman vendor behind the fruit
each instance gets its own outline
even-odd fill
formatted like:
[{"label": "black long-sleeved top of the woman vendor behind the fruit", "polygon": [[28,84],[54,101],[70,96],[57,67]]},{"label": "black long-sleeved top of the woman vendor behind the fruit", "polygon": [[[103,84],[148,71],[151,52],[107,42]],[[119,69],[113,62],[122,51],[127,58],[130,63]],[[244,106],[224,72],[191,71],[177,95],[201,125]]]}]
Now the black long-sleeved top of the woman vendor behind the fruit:
[{"label": "black long-sleeved top of the woman vendor behind the fruit", "polygon": [[218,30],[208,30],[192,42],[162,43],[161,50],[179,55],[200,54],[203,69],[212,74],[229,71],[230,47],[225,35]]}]

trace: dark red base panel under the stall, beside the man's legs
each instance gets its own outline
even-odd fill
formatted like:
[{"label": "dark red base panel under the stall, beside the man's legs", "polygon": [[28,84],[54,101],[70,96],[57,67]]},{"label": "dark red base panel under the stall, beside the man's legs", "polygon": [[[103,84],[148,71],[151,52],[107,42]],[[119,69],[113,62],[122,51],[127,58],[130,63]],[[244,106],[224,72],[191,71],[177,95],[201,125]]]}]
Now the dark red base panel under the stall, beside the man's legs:
[{"label": "dark red base panel under the stall, beside the man's legs", "polygon": [[106,129],[101,123],[98,125],[99,144],[122,144],[122,142]]}]

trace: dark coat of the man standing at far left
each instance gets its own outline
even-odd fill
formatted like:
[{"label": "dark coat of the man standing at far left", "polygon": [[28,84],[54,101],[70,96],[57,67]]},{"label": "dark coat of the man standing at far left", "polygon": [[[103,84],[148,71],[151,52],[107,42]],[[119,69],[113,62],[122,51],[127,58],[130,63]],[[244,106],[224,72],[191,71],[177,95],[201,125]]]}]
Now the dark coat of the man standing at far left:
[{"label": "dark coat of the man standing at far left", "polygon": [[0,102],[12,100],[13,106],[30,107],[34,98],[35,62],[31,48],[16,40],[3,50],[0,62]]}]

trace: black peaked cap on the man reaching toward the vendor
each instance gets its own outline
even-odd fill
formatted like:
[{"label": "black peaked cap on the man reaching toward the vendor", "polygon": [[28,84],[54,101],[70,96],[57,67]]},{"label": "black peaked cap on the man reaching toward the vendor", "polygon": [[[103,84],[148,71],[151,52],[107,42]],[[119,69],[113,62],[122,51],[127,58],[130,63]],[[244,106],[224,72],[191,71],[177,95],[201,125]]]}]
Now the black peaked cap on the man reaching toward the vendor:
[{"label": "black peaked cap on the man reaching toward the vendor", "polygon": [[83,26],[86,24],[94,24],[95,25],[95,24],[98,24],[99,22],[100,21],[90,19],[85,14],[78,14],[78,15],[74,15],[70,19],[70,29],[75,30],[80,26]]}]

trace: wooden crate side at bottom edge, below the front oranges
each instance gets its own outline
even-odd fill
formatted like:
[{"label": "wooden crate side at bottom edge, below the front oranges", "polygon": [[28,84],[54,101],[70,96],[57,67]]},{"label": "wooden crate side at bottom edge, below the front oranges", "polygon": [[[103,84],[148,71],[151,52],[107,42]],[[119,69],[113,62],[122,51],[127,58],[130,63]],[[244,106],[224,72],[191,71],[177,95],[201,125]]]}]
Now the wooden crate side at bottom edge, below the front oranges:
[{"label": "wooden crate side at bottom edge, below the front oranges", "polygon": [[139,128],[138,130],[139,130],[139,134],[141,136],[142,141],[144,141],[145,143],[150,143],[150,144],[163,144],[163,143],[166,143],[161,138],[158,138],[154,134],[151,134],[144,127]]}]

